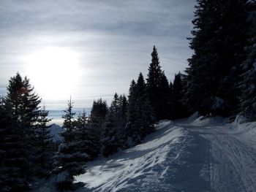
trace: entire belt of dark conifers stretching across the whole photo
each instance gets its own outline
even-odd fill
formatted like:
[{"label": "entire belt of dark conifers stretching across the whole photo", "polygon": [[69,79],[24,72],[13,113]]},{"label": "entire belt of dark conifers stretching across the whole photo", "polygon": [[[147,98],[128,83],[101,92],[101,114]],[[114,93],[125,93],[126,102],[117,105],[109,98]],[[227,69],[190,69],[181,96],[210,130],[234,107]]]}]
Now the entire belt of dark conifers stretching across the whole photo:
[{"label": "entire belt of dark conifers stretching across the whole photo", "polygon": [[151,53],[146,79],[132,80],[129,95],[94,101],[91,114],[75,118],[64,110],[64,138],[57,147],[49,134],[48,111],[39,107],[28,78],[10,79],[0,99],[0,188],[25,191],[36,177],[55,177],[59,189],[72,189],[84,163],[137,145],[162,119],[200,115],[256,118],[255,1],[197,0],[185,74],[169,82]]}]

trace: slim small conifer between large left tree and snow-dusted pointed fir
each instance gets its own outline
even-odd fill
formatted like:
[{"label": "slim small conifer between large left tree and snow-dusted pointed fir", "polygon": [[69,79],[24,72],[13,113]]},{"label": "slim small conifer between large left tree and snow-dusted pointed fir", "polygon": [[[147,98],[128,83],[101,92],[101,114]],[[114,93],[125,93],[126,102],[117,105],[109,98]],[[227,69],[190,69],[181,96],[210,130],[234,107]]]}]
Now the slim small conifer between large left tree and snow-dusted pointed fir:
[{"label": "slim small conifer between large left tree and snow-dusted pointed fir", "polygon": [[53,170],[53,156],[56,152],[56,146],[50,136],[50,126],[48,126],[50,120],[48,111],[43,106],[39,113],[34,147],[36,156],[34,169],[37,175],[42,177],[48,176]]}]

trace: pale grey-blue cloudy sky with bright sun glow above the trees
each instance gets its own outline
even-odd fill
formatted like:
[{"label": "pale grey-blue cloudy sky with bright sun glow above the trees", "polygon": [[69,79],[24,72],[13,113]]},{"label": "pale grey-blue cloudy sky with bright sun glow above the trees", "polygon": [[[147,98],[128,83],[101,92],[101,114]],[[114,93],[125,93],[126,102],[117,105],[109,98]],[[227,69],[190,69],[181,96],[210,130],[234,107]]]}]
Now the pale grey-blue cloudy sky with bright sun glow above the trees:
[{"label": "pale grey-blue cloudy sky with bright sun glow above the trees", "polygon": [[192,55],[194,0],[1,0],[0,94],[16,72],[48,109],[127,94],[158,49],[168,80]]}]

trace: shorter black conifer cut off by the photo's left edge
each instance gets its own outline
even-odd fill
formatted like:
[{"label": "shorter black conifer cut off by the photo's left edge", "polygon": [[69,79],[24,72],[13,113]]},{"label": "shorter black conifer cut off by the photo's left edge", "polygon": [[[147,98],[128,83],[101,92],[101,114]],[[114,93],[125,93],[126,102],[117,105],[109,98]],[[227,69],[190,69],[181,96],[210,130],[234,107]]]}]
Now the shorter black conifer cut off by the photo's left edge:
[{"label": "shorter black conifer cut off by the photo's left edge", "polygon": [[12,108],[1,103],[0,108],[0,188],[1,191],[26,191],[29,188],[28,151],[20,138],[20,128],[12,118]]}]

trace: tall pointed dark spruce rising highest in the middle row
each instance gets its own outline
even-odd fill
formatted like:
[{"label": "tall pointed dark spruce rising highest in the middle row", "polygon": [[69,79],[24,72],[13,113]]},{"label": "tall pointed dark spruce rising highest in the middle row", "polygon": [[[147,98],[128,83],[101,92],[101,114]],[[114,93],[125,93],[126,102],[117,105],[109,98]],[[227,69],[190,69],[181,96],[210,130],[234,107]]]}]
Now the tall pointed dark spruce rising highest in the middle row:
[{"label": "tall pointed dark spruce rising highest in the middle row", "polygon": [[169,101],[167,99],[167,92],[169,90],[167,78],[162,71],[157,48],[153,47],[151,53],[151,64],[148,68],[147,78],[147,92],[151,106],[153,107],[154,114],[157,120],[168,118],[167,111],[169,109]]}]

